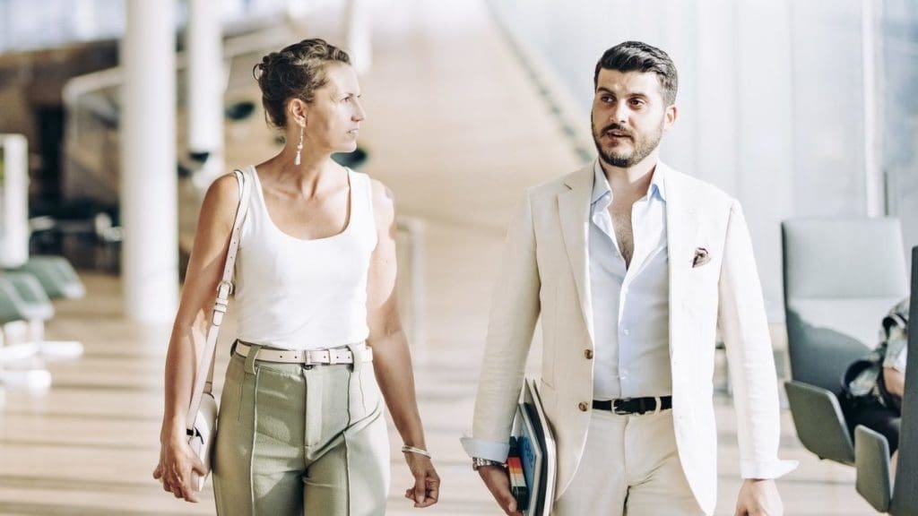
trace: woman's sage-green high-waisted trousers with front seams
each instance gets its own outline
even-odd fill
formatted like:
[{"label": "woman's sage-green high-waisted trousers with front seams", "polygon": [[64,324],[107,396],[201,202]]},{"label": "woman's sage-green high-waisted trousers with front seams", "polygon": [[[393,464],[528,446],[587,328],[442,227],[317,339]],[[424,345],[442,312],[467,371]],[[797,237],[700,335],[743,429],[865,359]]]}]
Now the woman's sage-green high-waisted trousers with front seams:
[{"label": "woman's sage-green high-waisted trousers with front seams", "polygon": [[385,514],[389,447],[373,364],[277,364],[255,360],[256,348],[233,353],[220,399],[218,514]]}]

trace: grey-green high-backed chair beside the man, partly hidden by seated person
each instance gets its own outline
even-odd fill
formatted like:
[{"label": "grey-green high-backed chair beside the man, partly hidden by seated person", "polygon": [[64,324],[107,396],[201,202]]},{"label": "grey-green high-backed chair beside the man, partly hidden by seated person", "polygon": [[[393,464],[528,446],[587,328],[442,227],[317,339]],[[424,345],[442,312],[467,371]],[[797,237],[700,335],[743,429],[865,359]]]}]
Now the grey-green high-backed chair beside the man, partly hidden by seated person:
[{"label": "grey-green high-backed chair beside the man, partly hidden by seated person", "polygon": [[841,377],[877,345],[880,320],[908,292],[899,220],[790,219],[781,237],[794,426],[813,454],[854,465]]}]

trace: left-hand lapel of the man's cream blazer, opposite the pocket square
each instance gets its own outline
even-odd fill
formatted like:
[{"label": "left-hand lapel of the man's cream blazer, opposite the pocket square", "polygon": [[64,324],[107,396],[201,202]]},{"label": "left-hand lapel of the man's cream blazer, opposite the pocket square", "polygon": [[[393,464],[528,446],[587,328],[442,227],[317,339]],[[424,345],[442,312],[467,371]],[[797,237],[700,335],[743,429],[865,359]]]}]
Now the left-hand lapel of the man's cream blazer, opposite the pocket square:
[{"label": "left-hand lapel of the man's cream blazer, opposite the pocket square", "polygon": [[561,233],[564,235],[567,258],[574,271],[580,311],[587,324],[589,339],[593,342],[593,309],[590,301],[588,281],[589,201],[593,191],[593,163],[568,175],[565,185],[570,190],[558,196],[558,213],[561,219]]}]

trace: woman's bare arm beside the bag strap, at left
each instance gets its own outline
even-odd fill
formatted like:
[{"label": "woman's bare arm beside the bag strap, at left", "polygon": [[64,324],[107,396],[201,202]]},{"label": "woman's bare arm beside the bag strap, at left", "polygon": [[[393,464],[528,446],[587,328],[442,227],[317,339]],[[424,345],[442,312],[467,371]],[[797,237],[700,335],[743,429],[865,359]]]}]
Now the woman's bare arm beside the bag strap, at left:
[{"label": "woman's bare arm beside the bag strap, at left", "polygon": [[203,349],[196,349],[196,343],[205,342],[210,325],[210,308],[223,275],[239,196],[239,182],[232,174],[220,177],[207,189],[166,353],[160,463],[153,477],[161,478],[163,489],[172,492],[175,498],[188,501],[197,501],[191,470],[204,475],[209,467],[197,460],[185,436],[185,416],[194,387],[197,357],[203,353]]}]

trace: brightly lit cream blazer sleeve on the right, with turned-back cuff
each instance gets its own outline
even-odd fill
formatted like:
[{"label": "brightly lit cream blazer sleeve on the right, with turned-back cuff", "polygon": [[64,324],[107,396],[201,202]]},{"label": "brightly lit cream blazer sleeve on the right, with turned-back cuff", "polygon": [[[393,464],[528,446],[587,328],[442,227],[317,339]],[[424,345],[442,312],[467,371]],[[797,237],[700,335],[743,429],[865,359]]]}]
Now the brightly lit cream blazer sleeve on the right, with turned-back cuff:
[{"label": "brightly lit cream blazer sleeve on the right, with turned-back cuff", "polygon": [[752,240],[733,201],[724,241],[718,325],[726,346],[743,478],[777,478],[797,467],[778,459],[778,378]]}]

